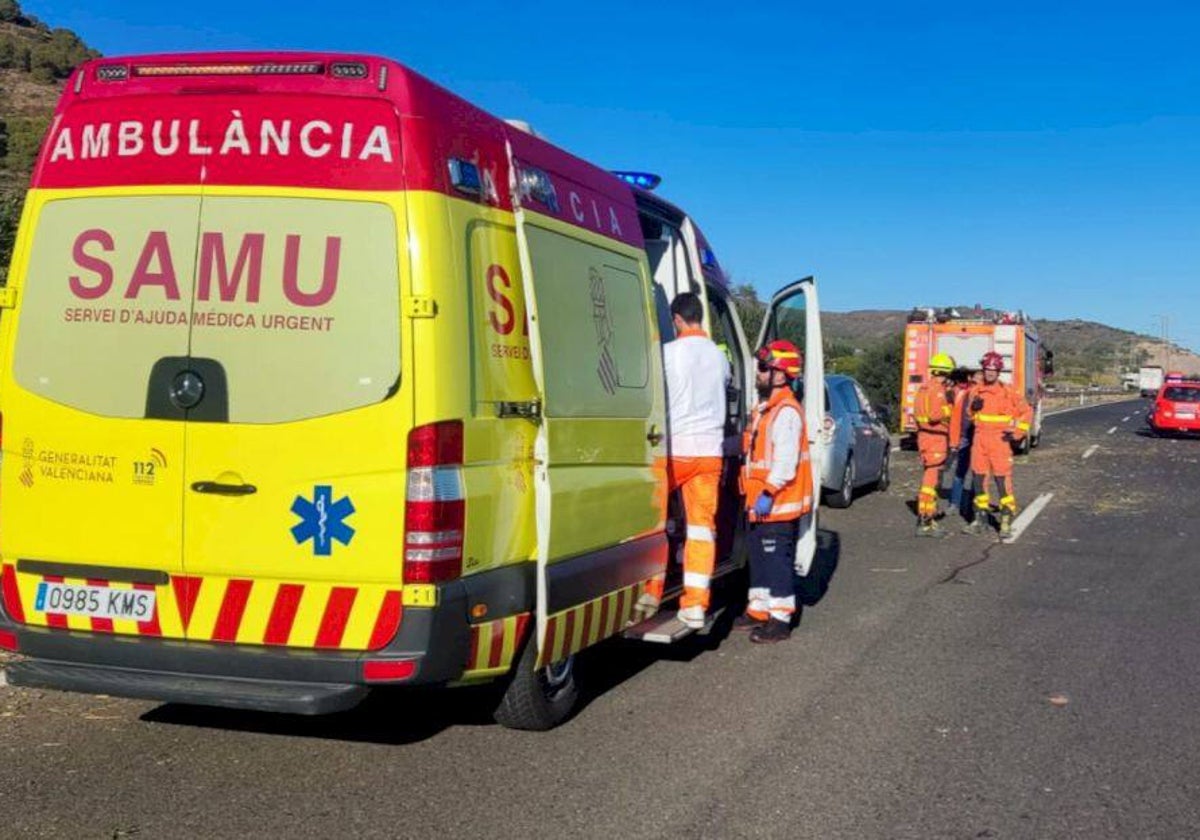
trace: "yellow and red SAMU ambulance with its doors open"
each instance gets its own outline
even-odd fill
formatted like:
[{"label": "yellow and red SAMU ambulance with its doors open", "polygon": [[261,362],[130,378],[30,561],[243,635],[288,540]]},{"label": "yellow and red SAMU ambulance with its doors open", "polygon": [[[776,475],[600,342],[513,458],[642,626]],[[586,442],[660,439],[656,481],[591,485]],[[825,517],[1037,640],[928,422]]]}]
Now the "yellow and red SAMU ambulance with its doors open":
[{"label": "yellow and red SAMU ambulance with its doors open", "polygon": [[[713,250],[652,181],[379,58],[80,66],[0,290],[8,682],[301,714],[497,682],[502,724],[564,720],[576,654],[680,589],[676,294],[730,355],[731,438],[754,401]],[[811,278],[775,337],[821,395]]]}]

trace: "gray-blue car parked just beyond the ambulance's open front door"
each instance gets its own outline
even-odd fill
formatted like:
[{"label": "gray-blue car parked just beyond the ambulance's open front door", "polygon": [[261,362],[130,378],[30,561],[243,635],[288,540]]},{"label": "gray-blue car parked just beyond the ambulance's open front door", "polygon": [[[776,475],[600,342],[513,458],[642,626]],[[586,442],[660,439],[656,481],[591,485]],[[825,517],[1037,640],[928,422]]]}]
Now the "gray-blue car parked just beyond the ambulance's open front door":
[{"label": "gray-blue car parked just beyond the ambulance's open front door", "polygon": [[888,488],[892,439],[852,377],[826,377],[826,419],[821,434],[826,443],[821,468],[826,504],[848,508],[858,488]]}]

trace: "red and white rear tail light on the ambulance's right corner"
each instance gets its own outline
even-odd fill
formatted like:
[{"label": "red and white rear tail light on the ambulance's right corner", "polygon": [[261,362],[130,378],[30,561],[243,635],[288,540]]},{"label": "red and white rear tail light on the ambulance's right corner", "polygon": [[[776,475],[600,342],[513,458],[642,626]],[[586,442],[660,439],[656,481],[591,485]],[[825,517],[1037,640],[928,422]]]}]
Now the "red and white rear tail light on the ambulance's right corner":
[{"label": "red and white rear tail light on the ambulance's right corner", "polygon": [[408,433],[404,583],[438,583],[462,575],[466,521],[462,421],[418,426]]}]

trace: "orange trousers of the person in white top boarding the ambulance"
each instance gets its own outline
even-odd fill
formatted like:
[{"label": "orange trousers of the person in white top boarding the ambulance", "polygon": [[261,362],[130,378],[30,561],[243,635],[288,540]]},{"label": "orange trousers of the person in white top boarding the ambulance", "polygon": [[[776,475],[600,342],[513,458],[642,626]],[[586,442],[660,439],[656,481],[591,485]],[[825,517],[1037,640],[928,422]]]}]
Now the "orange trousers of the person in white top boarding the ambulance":
[{"label": "orange trousers of the person in white top boarding the ambulance", "polygon": [[[667,463],[667,491],[683,493],[688,540],[683,546],[683,595],[680,607],[708,608],[709,583],[716,565],[716,503],[721,492],[720,456],[673,457]],[[662,598],[662,578],[648,581],[646,592]]]}]

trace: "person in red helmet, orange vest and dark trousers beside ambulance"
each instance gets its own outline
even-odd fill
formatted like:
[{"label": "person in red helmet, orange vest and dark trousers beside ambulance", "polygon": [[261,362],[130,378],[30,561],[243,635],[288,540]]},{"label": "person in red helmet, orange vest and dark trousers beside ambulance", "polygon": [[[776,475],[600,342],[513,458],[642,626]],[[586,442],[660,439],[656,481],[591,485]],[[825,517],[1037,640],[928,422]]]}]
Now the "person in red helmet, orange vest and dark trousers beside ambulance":
[{"label": "person in red helmet, orange vest and dark trousers beside ambulance", "polygon": [[812,511],[812,461],[804,409],[792,383],[803,359],[790,341],[773,341],[756,354],[758,404],[743,439],[742,492],[750,520],[750,593],[734,620],[755,643],[781,642],[796,614],[793,570],[800,517]]}]

